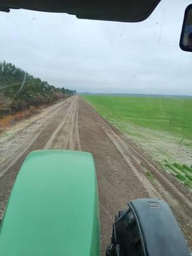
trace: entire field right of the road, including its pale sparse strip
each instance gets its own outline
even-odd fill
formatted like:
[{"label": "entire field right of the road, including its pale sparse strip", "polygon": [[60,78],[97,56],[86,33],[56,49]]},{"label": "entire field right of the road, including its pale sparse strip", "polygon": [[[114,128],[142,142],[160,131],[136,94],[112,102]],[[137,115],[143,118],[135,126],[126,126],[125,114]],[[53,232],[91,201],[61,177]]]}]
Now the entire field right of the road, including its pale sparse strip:
[{"label": "entire field right of the road, including its pale sparse strip", "polygon": [[[83,95],[100,115],[192,189],[192,99]],[[152,179],[150,173],[146,173]]]}]

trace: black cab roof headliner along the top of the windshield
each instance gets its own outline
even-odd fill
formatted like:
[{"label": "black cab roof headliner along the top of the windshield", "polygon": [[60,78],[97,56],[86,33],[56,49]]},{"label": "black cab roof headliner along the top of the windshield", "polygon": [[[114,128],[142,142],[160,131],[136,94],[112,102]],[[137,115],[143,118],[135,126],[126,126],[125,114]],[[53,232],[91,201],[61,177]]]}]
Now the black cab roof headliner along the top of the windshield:
[{"label": "black cab roof headliner along the top of the windshield", "polygon": [[79,19],[139,22],[148,18],[161,0],[1,0],[0,11],[28,9],[76,15]]}]

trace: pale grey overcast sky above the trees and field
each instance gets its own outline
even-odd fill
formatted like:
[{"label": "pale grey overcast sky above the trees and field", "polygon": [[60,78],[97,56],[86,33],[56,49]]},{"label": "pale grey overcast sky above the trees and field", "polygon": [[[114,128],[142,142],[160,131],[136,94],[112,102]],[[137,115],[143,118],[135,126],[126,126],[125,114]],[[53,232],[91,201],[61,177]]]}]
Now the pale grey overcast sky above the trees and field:
[{"label": "pale grey overcast sky above the trees and field", "polygon": [[0,12],[0,60],[77,92],[192,95],[192,53],[179,48],[190,2],[162,0],[138,23]]}]

